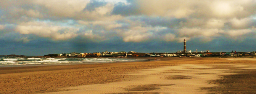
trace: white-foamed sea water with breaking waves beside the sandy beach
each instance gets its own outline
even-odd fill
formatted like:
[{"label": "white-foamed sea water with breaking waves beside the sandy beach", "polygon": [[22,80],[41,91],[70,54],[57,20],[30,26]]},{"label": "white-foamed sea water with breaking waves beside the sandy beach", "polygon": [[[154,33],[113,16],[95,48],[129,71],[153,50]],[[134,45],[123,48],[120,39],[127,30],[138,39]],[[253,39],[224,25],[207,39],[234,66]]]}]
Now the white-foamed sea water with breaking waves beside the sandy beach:
[{"label": "white-foamed sea water with breaking waves beside the sandy beach", "polygon": [[140,62],[148,59],[127,59],[127,58],[21,58],[21,57],[0,57],[0,67],[33,66],[46,64],[96,64],[112,62]]}]

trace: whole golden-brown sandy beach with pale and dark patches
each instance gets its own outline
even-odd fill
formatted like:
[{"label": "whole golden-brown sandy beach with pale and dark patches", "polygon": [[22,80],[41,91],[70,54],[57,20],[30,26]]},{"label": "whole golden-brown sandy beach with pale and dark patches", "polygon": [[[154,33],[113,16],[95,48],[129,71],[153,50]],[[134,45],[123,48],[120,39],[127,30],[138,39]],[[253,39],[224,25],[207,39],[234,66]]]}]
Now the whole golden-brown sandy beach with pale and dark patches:
[{"label": "whole golden-brown sandy beach with pale and dark patches", "polygon": [[[154,58],[147,58],[154,59]],[[0,94],[253,94],[254,58],[0,68]]]}]

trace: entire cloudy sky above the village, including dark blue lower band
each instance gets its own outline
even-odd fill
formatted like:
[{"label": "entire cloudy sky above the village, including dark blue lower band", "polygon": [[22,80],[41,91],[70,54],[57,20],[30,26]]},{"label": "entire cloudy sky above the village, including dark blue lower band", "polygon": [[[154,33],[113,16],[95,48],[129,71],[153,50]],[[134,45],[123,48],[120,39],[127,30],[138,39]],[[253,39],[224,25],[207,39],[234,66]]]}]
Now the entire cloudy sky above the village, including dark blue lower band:
[{"label": "entire cloudy sky above the village, including dark blue lower band", "polygon": [[256,0],[0,0],[0,55],[256,51]]}]

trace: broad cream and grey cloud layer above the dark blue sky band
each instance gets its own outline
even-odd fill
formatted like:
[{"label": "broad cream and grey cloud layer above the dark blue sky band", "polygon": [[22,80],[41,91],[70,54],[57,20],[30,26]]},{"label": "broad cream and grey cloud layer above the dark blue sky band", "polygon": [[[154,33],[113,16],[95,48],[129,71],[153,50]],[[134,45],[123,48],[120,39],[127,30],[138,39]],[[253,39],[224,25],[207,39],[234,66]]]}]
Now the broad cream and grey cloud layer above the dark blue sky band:
[{"label": "broad cream and grey cloud layer above the dark blue sky band", "polygon": [[255,0],[15,1],[0,1],[0,30],[15,25],[16,32],[30,35],[24,40],[34,35],[56,41],[118,37],[124,42],[182,42],[184,38],[209,42],[246,37],[256,27]]}]

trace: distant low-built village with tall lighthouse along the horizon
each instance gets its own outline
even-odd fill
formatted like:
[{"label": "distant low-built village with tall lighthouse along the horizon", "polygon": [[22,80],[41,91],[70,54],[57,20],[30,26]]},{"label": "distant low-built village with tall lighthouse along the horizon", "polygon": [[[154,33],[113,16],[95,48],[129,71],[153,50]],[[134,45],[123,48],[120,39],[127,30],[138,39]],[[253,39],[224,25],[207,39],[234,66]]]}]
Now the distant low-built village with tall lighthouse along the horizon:
[{"label": "distant low-built village with tall lighthouse along the horizon", "polygon": [[227,56],[256,56],[254,52],[236,52],[232,51],[230,53],[227,52],[214,52],[211,53],[209,50],[196,51],[192,52],[191,50],[186,49],[186,40],[184,39],[184,49],[183,51],[177,51],[176,53],[137,53],[135,51],[129,51],[128,53],[125,51],[121,52],[101,52],[101,53],[69,53],[69,54],[48,54],[45,55],[48,57],[57,57],[57,56],[65,56],[65,57],[227,57]]}]

